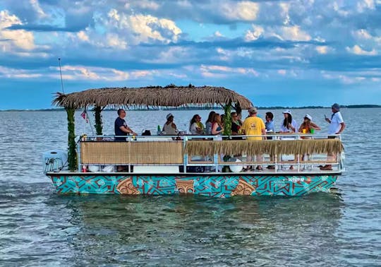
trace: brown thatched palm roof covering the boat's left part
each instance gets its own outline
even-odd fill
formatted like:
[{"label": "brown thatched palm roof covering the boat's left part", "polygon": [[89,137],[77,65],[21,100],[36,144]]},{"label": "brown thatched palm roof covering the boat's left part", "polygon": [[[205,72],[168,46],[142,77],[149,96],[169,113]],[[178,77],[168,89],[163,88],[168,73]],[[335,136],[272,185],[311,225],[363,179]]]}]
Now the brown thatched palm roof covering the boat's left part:
[{"label": "brown thatched palm roof covering the boat's left part", "polygon": [[59,107],[84,108],[87,106],[124,107],[180,107],[208,105],[239,105],[246,109],[253,104],[243,95],[223,88],[202,86],[145,87],[145,88],[100,88],[81,92],[56,93],[53,105]]}]

